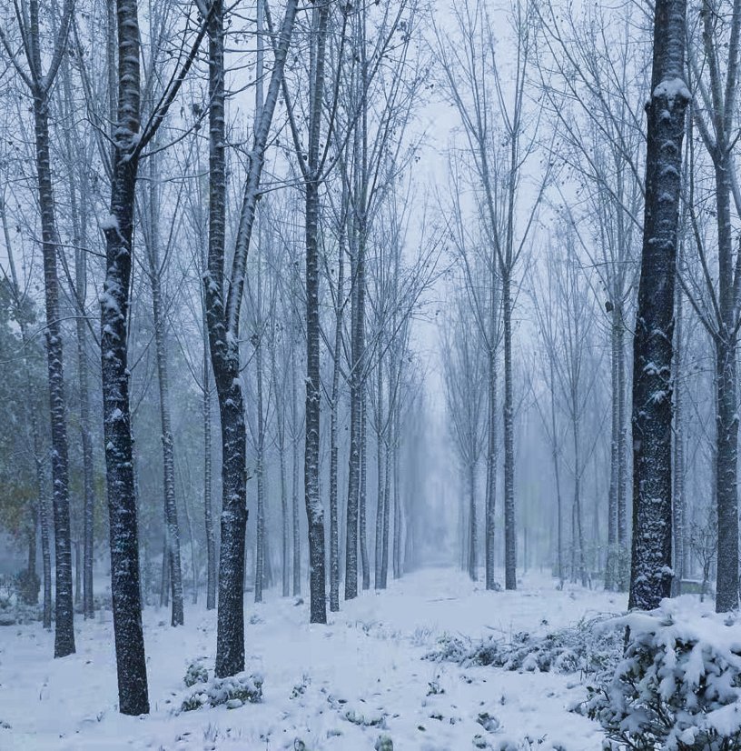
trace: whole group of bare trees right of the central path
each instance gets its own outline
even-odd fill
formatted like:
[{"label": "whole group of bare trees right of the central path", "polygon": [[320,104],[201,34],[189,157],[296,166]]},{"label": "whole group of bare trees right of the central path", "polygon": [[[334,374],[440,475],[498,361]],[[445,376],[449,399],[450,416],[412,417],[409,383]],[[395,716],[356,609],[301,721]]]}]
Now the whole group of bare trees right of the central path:
[{"label": "whole group of bare trees right of the central path", "polygon": [[[549,546],[540,561],[552,563],[561,581],[569,576],[586,586],[596,573],[609,589],[627,590],[632,568],[644,588],[631,588],[631,603],[651,606],[672,578],[678,583],[706,568],[705,536],[693,528],[717,528],[717,607],[731,609],[738,601],[736,5],[662,5],[656,19],[636,25],[624,8],[576,13],[523,2],[511,7],[504,39],[499,19],[475,0],[457,5],[452,20],[435,33],[440,85],[459,121],[450,196],[441,198],[452,217],[455,268],[442,349],[451,440],[465,478],[465,567],[477,576],[479,518],[487,586],[500,517],[507,586],[514,586],[515,549],[508,540],[519,537],[527,556],[528,529],[516,536],[509,512],[514,409],[519,442],[534,417],[543,445],[533,451],[529,437],[519,471],[537,471],[541,457],[550,459],[553,484],[541,491],[553,501]],[[660,30],[649,80],[644,43],[654,21]],[[686,56],[683,44],[664,40],[676,39],[680,27],[687,28]],[[648,141],[646,91],[655,97],[649,129],[659,132]],[[514,379],[513,305],[525,350]],[[513,380],[520,385],[514,396]],[[631,466],[632,526],[643,530],[633,538],[632,566]],[[527,480],[518,486],[526,491]],[[524,526],[538,525],[527,499],[519,508]],[[664,573],[656,581],[657,571]]]}]

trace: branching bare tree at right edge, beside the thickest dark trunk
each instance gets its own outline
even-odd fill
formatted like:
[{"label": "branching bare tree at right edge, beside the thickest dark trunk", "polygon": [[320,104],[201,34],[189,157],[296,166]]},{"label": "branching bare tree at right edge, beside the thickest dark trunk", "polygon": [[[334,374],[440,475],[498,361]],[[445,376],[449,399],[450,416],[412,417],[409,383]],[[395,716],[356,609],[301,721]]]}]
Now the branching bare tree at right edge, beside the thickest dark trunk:
[{"label": "branching bare tree at right edge, beside the thickest dark trunk", "polygon": [[[717,267],[711,275],[711,256],[698,227],[693,200],[698,162],[691,157],[693,185],[689,215],[693,237],[706,283],[705,305],[684,285],[706,331],[713,341],[716,360],[716,503],[717,503],[717,586],[719,613],[738,606],[738,412],[736,347],[741,325],[741,254],[734,258],[733,215],[741,215],[741,192],[734,166],[733,149],[739,135],[737,83],[741,50],[741,4],[705,0],[700,5],[701,29],[691,29],[688,38],[689,83],[697,92],[692,108],[694,125],[710,157],[714,182]],[[699,36],[699,39],[697,39]],[[723,52],[721,52],[723,50]],[[735,211],[734,211],[735,209]],[[715,248],[713,248],[715,250]],[[715,278],[714,278],[715,277]]]}]

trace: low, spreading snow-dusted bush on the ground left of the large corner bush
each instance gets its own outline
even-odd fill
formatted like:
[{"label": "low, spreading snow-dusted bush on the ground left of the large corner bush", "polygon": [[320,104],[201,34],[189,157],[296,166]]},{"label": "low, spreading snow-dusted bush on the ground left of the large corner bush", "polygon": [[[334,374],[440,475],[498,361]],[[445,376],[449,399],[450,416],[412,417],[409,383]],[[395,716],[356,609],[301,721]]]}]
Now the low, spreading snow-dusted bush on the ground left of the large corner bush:
[{"label": "low, spreading snow-dusted bush on the ground left of the large corner bush", "polygon": [[540,673],[599,673],[617,664],[622,636],[598,626],[603,618],[582,620],[545,636],[520,632],[507,642],[489,637],[467,642],[457,636],[442,637],[427,659],[462,666],[495,666],[505,670]]}]

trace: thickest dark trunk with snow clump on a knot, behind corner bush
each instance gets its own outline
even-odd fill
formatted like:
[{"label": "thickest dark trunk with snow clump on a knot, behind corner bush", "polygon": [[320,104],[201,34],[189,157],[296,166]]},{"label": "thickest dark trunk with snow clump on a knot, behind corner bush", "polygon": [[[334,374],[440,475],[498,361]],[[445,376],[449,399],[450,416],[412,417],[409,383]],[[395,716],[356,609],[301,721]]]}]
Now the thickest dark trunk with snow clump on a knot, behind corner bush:
[{"label": "thickest dark trunk with snow clump on a knot, behind corner bush", "polygon": [[[633,365],[633,550],[628,607],[651,609],[671,584],[671,376],[685,110],[685,0],[654,22],[643,251]],[[679,84],[679,85],[677,85]]]}]

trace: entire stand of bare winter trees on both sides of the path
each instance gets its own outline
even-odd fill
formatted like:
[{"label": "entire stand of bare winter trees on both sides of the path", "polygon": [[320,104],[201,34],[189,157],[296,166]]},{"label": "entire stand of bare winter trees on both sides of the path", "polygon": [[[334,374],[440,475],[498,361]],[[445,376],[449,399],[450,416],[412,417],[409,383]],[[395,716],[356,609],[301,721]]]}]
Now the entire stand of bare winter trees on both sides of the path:
[{"label": "entire stand of bare winter trees on both sides of the path", "polygon": [[[2,436],[3,522],[28,546],[29,601],[40,531],[45,626],[54,540],[55,656],[74,652],[75,590],[94,613],[104,496],[126,714],[148,711],[141,610],[155,579],[179,626],[203,569],[216,674],[230,676],[244,668],[248,578],[257,602],[277,569],[282,595],[300,594],[304,538],[312,622],[371,575],[376,588],[401,576],[423,506],[414,320],[443,267],[442,386],[470,576],[483,547],[486,587],[501,560],[515,588],[519,546],[527,566],[528,541],[542,547],[552,527],[540,557],[561,581],[597,571],[651,606],[671,566],[689,572],[689,520],[706,505],[687,499],[709,487],[717,607],[736,606],[736,5],[690,7],[687,62],[684,5],[658,5],[651,82],[636,51],[652,19],[600,6],[515,2],[509,35],[479,0],[450,23],[410,1],[5,8],[0,388],[23,429]],[[459,123],[436,199],[444,222],[425,211],[417,166],[433,88]],[[629,576],[634,315],[642,534]],[[539,525],[519,476],[538,450],[554,480]]]}]

